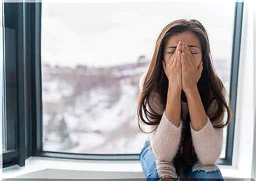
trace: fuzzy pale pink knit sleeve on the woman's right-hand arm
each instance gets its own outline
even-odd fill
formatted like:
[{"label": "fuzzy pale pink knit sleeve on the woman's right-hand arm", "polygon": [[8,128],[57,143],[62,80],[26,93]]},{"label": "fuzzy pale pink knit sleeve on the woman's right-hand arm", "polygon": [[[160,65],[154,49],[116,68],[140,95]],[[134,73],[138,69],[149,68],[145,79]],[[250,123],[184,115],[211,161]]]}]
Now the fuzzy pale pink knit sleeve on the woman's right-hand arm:
[{"label": "fuzzy pale pink knit sleeve on the woman's right-hand arm", "polygon": [[[213,111],[214,107],[210,108],[210,111]],[[221,121],[223,122],[223,116]],[[201,130],[194,130],[191,122],[190,130],[193,146],[200,162],[202,164],[215,163],[222,150],[223,128],[214,128],[207,116],[207,123]]]}]

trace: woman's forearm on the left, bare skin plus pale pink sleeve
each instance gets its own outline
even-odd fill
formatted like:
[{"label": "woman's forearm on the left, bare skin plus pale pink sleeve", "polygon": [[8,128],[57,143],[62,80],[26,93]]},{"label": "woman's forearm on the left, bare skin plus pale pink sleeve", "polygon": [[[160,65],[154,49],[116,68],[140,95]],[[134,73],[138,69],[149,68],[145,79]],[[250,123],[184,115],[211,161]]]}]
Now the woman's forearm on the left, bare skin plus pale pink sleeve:
[{"label": "woman's forearm on the left, bare skin plus pale pink sleeve", "polygon": [[171,162],[178,150],[182,123],[181,90],[168,88],[167,104],[152,140],[153,152],[159,160]]}]

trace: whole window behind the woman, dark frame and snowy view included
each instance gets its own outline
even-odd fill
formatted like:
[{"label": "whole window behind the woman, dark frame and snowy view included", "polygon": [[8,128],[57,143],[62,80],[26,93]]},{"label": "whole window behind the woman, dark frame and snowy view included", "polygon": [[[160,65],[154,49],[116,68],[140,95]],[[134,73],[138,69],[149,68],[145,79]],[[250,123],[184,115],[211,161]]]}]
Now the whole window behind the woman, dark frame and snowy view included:
[{"label": "whole window behind the woman, dark frame and snowy view included", "polygon": [[[235,112],[242,4],[4,3],[3,128],[11,130],[3,135],[8,140],[16,134],[19,164],[30,155],[138,160],[145,136],[135,114],[139,77],[160,30],[175,19],[198,19],[205,26]],[[17,95],[13,105],[11,93]],[[6,125],[12,116],[16,127]],[[233,122],[224,129],[219,164],[231,164]]]}]

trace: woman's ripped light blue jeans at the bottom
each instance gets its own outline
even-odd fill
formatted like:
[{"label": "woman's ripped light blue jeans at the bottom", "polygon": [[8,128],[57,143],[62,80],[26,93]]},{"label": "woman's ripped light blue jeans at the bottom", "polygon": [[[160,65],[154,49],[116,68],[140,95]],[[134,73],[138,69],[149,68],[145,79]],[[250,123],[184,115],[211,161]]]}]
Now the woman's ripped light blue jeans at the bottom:
[{"label": "woman's ripped light blue jeans at the bottom", "polygon": [[[164,180],[161,174],[157,172],[156,157],[153,151],[150,149],[149,141],[146,141],[143,148],[141,149],[141,153],[139,153],[139,159],[147,181]],[[176,175],[177,174],[174,174],[172,180],[180,180]],[[189,172],[186,173],[186,176],[186,178],[193,178],[193,181],[224,181],[217,165],[213,167],[212,165],[202,165],[200,162],[196,162],[195,165],[193,165],[193,167],[189,170]]]}]

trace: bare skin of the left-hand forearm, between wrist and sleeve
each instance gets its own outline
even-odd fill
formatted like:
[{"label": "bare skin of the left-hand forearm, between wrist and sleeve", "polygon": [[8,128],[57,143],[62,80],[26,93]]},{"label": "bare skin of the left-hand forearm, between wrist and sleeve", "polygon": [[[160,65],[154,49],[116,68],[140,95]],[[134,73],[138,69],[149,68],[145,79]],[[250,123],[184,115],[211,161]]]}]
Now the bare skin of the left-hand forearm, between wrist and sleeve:
[{"label": "bare skin of the left-hand forearm, between wrist and sleeve", "polygon": [[171,123],[177,127],[180,125],[181,89],[169,86],[165,114]]}]

